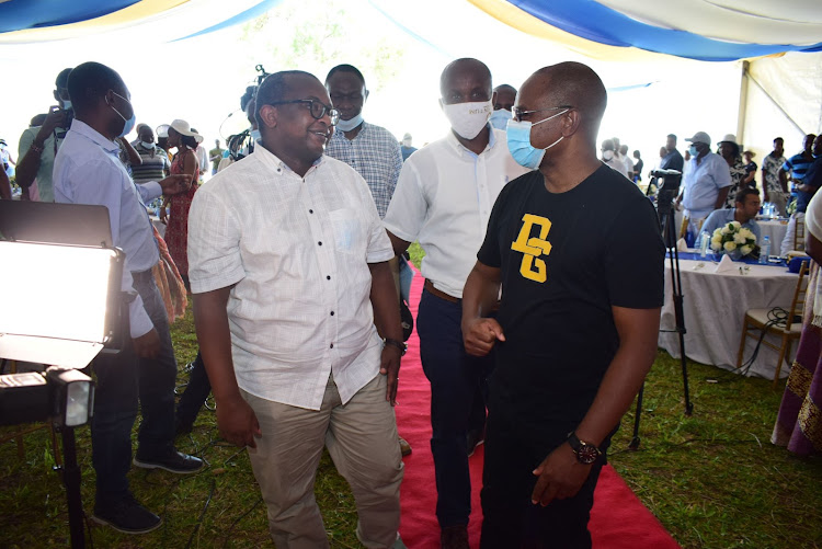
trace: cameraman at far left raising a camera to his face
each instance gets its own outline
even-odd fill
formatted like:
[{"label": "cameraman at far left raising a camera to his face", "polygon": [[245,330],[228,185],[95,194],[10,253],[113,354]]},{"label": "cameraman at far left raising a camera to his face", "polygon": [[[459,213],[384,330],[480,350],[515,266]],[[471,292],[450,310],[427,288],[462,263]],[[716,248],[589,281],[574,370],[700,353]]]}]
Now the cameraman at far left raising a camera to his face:
[{"label": "cameraman at far left raising a camera to his face", "polygon": [[66,88],[69,72],[71,68],[62,69],[55,81],[54,98],[58,106],[48,110],[48,115],[42,126],[30,127],[20,136],[16,182],[23,190],[23,199],[28,199],[28,187],[36,180],[39,199],[54,202],[52,183],[54,158],[75,117]]}]

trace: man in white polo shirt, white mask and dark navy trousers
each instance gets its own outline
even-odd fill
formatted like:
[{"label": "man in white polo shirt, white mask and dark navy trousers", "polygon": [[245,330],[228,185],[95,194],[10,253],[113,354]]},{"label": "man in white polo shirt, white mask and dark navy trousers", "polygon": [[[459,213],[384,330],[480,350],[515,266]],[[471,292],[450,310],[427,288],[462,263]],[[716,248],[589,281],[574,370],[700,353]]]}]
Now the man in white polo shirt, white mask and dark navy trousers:
[{"label": "man in white polo shirt, white mask and dark navy trousers", "polygon": [[402,164],[384,221],[398,255],[413,241],[425,251],[416,331],[431,381],[436,514],[443,547],[467,547],[468,456],[482,441],[490,362],[465,353],[459,300],[496,195],[527,170],[511,157],[505,133],[488,123],[493,93],[484,64],[453,61],[439,88],[452,130]]}]

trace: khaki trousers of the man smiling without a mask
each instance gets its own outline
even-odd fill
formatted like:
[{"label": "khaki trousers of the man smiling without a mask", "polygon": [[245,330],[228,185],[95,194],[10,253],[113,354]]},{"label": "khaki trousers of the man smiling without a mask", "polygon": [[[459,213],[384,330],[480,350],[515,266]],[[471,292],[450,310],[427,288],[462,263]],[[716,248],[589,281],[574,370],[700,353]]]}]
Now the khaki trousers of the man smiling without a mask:
[{"label": "khaki trousers of the man smiling without a mask", "polygon": [[320,411],[241,393],[262,431],[249,457],[277,549],[329,547],[313,495],[323,446],[351,484],[359,541],[369,549],[397,541],[403,465],[393,409],[386,401],[385,376],[378,374],[346,404],[329,376]]}]

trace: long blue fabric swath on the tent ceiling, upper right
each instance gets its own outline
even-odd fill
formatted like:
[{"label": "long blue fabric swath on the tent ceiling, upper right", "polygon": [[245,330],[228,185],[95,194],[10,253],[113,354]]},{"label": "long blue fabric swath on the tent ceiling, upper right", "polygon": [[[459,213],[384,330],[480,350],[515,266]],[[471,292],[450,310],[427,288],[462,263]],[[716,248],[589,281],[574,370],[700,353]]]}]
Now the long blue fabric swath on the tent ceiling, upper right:
[{"label": "long blue fabric swath on the tent ceiling, upper right", "polygon": [[820,52],[813,45],[735,44],[631,19],[594,0],[507,0],[545,23],[592,42],[638,47],[705,61],[730,61],[783,52]]}]

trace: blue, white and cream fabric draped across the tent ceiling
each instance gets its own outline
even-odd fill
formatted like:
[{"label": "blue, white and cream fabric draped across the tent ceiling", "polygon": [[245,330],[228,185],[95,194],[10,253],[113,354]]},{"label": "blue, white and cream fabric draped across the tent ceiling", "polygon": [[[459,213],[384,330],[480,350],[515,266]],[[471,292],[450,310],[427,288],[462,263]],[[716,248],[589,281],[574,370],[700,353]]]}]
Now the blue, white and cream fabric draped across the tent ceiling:
[{"label": "blue, white and cream fabric draped across the tent ceiling", "polygon": [[[181,39],[241,23],[281,0],[0,0],[0,44],[48,42],[181,24]],[[457,0],[524,33],[591,57],[667,54],[723,61],[822,50],[820,0]],[[378,3],[378,2],[372,2]]]}]

